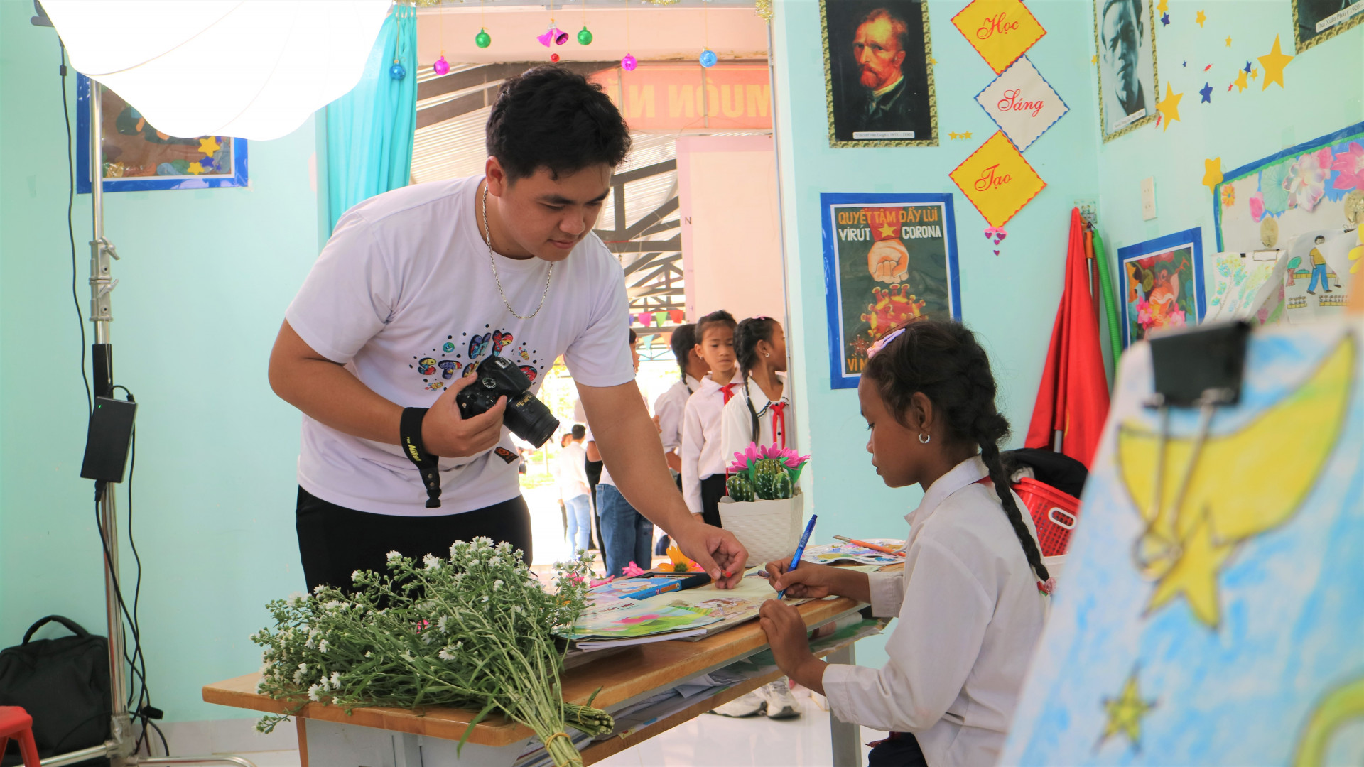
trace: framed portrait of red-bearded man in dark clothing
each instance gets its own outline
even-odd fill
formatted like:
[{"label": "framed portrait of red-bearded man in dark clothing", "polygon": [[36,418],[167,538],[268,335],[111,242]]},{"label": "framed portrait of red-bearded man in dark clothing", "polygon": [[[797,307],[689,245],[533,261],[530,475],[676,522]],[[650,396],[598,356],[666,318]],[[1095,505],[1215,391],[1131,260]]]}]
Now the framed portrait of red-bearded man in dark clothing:
[{"label": "framed portrait of red-bearded man in dark clothing", "polygon": [[829,146],[937,146],[929,7],[820,0]]}]

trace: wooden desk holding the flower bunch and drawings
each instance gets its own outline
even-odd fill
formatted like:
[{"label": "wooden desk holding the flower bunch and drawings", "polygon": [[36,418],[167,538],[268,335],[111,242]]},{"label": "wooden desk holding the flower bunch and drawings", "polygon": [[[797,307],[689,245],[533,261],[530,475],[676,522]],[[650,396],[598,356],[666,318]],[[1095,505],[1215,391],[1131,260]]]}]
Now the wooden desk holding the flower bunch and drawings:
[{"label": "wooden desk holding the flower bunch and drawings", "polygon": [[[839,598],[797,606],[805,622],[816,628],[861,610],[863,605]],[[758,622],[749,621],[700,641],[659,641],[626,648],[570,669],[563,674],[563,697],[585,703],[602,689],[593,706],[619,711],[634,701],[671,689],[692,678],[742,661],[768,647]],[[839,663],[853,662],[851,644],[831,655]],[[626,737],[589,744],[584,764],[592,764],[670,730],[716,706],[728,703],[782,677],[780,671],[746,680],[715,696],[701,696],[683,711],[666,717]],[[256,692],[261,674],[246,674],[203,686],[203,700],[220,706],[284,714],[285,703]],[[479,764],[510,767],[535,737],[529,727],[490,717],[473,727],[462,752],[456,745],[464,737],[475,712],[460,708],[355,708],[351,715],[336,706],[310,703],[296,715],[299,756],[303,767],[431,767],[435,764]],[[858,729],[829,718],[833,734],[835,767],[861,764]]]}]

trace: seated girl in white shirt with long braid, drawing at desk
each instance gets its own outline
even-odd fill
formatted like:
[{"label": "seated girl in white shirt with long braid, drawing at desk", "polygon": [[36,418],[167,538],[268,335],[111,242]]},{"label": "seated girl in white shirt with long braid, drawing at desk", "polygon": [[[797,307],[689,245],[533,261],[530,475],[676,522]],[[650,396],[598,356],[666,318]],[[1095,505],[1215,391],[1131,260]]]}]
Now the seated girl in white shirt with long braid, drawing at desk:
[{"label": "seated girl in white shirt with long braid, drawing at desk", "polygon": [[773,588],[870,602],[898,616],[883,669],[829,665],[810,654],[794,607],[768,600],[761,625],[777,665],[822,692],[844,722],[889,730],[869,755],[889,764],[993,764],[1046,617],[1053,581],[1033,519],[1009,490],[985,351],[964,326],[921,319],[868,352],[858,385],[872,431],[866,449],[891,487],[918,483],[903,573],[802,562],[768,565]]}]

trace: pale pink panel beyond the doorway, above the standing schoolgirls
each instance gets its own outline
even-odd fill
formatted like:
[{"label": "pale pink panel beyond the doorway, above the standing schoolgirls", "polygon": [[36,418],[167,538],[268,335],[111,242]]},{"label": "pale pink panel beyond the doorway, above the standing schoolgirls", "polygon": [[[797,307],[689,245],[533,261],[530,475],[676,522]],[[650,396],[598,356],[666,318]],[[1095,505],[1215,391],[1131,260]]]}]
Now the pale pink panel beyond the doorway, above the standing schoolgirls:
[{"label": "pale pink panel beyond the doorway, above the standing schoolgirls", "polygon": [[784,322],[772,136],[678,138],[687,321],[716,308]]}]

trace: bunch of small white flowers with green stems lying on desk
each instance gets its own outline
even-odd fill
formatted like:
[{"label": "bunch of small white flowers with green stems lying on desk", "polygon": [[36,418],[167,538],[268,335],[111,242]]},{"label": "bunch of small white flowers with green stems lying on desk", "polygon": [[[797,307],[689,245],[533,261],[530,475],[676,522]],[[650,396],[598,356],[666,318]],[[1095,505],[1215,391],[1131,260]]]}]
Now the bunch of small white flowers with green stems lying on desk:
[{"label": "bunch of small white flowers with green stems lying on desk", "polygon": [[[559,685],[566,646],[554,632],[587,606],[589,558],[557,565],[552,592],[521,551],[487,538],[456,542],[449,560],[390,551],[387,565],[389,575],[352,573],[352,591],[270,602],[274,628],[251,637],[265,647],[259,691],[291,701],[291,712],[310,701],[475,710],[464,738],[502,712],[535,730],[558,767],[582,763],[566,725],[611,730],[606,711],[565,703]],[[285,719],[265,717],[256,729]]]}]

